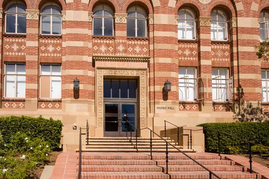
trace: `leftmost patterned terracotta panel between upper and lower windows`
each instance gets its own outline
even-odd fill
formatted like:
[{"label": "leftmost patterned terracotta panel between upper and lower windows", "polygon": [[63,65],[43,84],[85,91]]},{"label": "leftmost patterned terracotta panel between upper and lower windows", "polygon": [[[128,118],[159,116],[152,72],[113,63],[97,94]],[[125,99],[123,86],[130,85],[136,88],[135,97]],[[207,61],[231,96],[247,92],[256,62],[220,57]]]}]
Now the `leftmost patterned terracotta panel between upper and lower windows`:
[{"label": "leftmost patterned terracotta panel between upper and lower windows", "polygon": [[26,38],[25,37],[4,37],[5,56],[25,56]]}]

